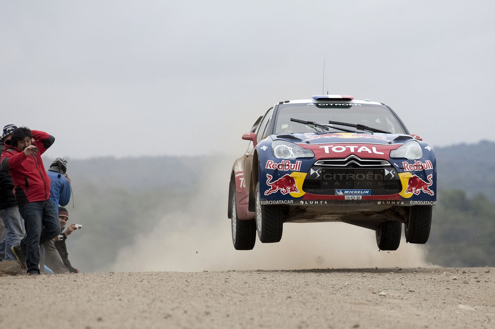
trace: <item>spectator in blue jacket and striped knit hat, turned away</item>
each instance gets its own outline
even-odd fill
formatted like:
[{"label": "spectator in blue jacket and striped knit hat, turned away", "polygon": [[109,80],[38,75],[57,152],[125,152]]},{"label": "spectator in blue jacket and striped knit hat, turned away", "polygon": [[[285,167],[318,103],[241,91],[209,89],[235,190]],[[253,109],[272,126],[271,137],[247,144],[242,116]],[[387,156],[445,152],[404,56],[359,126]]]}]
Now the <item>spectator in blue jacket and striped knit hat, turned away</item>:
[{"label": "spectator in blue jacket and striped knit hat, turned away", "polygon": [[[65,174],[66,171],[67,161],[63,158],[56,158],[48,169],[50,201],[53,203],[57,213],[58,205],[65,206],[70,200],[70,180]],[[55,248],[56,239],[47,241],[40,246],[40,270],[44,272],[46,265],[54,274],[69,273]]]}]

